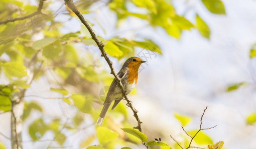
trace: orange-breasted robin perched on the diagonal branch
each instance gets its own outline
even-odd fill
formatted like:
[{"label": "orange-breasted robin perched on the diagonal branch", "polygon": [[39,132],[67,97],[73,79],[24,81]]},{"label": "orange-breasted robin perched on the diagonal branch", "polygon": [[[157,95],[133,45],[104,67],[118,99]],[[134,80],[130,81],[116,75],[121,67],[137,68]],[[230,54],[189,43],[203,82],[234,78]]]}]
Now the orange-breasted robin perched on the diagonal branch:
[{"label": "orange-breasted robin perched on the diagonal branch", "polygon": [[[131,90],[135,87],[137,83],[138,68],[142,63],[145,63],[145,61],[142,61],[140,58],[137,57],[131,57],[125,62],[122,69],[118,73],[118,76],[121,78],[121,82],[124,89],[126,90],[127,95],[131,92]],[[117,79],[114,78],[110,85],[105,102],[103,104],[104,106],[101,114],[97,120],[98,125],[101,126],[112,101],[115,101],[112,107],[113,110],[123,98],[124,97],[122,95],[120,87],[118,86]]]}]

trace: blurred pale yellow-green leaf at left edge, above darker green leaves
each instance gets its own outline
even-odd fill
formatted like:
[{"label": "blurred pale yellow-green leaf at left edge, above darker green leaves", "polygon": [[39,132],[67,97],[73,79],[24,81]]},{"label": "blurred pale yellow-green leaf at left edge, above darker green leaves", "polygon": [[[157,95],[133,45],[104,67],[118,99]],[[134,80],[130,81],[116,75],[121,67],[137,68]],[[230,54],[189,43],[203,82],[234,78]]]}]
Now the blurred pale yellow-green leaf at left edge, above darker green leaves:
[{"label": "blurred pale yellow-green leaf at left edge, above darker green leaves", "polygon": [[0,65],[2,66],[4,74],[6,76],[23,77],[27,75],[26,67],[22,64],[7,62]]}]

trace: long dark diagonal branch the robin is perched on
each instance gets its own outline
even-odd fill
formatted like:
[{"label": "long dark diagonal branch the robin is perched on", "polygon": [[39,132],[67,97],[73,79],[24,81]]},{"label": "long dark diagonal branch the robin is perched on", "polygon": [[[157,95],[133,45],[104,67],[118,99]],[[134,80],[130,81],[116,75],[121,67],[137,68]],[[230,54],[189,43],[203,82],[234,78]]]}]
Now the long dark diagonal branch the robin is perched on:
[{"label": "long dark diagonal branch the robin is perched on", "polygon": [[133,112],[133,116],[135,117],[138,126],[134,127],[136,129],[138,129],[141,132],[141,121],[138,118],[137,115],[137,110],[132,107],[130,100],[128,100],[127,95],[126,95],[126,91],[123,87],[123,84],[121,82],[121,78],[117,75],[117,73],[115,72],[114,68],[113,68],[113,63],[110,61],[108,55],[106,54],[105,50],[104,50],[104,44],[98,39],[97,35],[94,33],[93,29],[91,28],[91,26],[89,25],[89,23],[84,19],[83,15],[78,11],[77,7],[75,6],[73,0],[64,0],[65,4],[78,16],[78,18],[80,19],[80,21],[85,25],[85,27],[88,29],[88,31],[90,32],[92,39],[96,42],[97,46],[99,47],[100,51],[101,51],[101,56],[105,58],[105,60],[107,61],[110,70],[111,70],[111,74],[113,74],[118,82],[118,86],[120,87],[121,91],[122,91],[122,95],[125,98],[125,100],[128,103],[128,106],[130,107],[130,109]]}]

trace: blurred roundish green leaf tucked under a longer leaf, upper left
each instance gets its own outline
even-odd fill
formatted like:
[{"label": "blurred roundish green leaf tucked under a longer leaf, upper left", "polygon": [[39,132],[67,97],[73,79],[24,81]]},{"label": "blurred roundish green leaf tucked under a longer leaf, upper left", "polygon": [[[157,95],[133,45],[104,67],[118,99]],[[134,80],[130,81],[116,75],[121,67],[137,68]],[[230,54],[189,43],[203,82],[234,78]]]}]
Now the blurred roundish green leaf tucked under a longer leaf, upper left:
[{"label": "blurred roundish green leaf tucked under a longer leaf, upper left", "polygon": [[59,53],[62,50],[62,46],[59,40],[55,41],[52,44],[49,44],[43,48],[43,56],[48,59],[53,59],[59,56]]}]

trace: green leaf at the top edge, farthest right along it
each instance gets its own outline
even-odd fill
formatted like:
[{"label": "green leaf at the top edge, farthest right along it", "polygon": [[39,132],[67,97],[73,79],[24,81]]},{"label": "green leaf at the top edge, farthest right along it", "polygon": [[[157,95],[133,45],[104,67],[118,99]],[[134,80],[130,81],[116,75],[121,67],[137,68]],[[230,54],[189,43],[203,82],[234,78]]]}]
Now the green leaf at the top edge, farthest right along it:
[{"label": "green leaf at the top edge, farthest right along it", "polygon": [[226,14],[225,6],[221,0],[202,0],[205,7],[215,14]]}]

